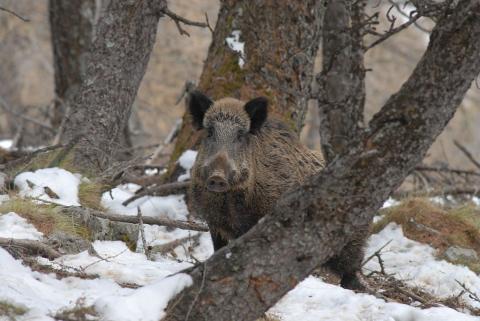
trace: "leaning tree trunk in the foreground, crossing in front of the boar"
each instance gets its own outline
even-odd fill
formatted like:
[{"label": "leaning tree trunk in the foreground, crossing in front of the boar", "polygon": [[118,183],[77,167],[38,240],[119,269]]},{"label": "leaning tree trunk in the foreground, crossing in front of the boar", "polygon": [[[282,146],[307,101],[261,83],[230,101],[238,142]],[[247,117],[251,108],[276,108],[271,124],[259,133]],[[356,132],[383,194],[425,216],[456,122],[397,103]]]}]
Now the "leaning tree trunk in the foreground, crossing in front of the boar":
[{"label": "leaning tree trunk in the foreground, crossing in front of the boar", "polygon": [[[480,72],[480,3],[441,18],[413,74],[336,161],[188,273],[164,320],[255,320],[357,229],[421,161]],[[188,316],[188,317],[186,317]]]}]

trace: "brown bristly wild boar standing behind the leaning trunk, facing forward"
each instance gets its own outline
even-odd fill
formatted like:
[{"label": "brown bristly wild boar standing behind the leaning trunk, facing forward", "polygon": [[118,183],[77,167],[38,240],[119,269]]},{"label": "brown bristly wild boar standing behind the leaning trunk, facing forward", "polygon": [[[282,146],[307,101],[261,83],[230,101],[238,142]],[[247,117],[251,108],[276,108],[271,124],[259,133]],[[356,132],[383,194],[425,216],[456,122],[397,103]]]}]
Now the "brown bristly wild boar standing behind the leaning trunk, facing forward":
[{"label": "brown bristly wild boar standing behind the leaning trunk, facing forward", "polygon": [[[287,189],[324,167],[321,154],[302,145],[285,123],[267,116],[267,109],[263,97],[213,102],[198,91],[191,94],[190,114],[202,131],[191,206],[207,221],[215,250],[246,233],[273,211]],[[357,287],[363,230],[329,262],[344,287]]]}]

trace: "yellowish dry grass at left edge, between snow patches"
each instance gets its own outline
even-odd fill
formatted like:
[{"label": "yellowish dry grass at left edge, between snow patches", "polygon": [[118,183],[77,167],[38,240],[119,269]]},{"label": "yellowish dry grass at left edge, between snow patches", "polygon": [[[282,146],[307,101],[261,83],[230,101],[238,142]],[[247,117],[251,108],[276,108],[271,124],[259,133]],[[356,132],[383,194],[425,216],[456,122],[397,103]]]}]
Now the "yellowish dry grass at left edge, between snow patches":
[{"label": "yellowish dry grass at left edge, between snow patches", "polygon": [[37,204],[32,200],[11,197],[9,201],[0,204],[0,213],[9,212],[15,212],[27,219],[46,236],[54,231],[61,231],[88,238],[89,233],[85,226],[62,213],[60,208],[53,204]]}]

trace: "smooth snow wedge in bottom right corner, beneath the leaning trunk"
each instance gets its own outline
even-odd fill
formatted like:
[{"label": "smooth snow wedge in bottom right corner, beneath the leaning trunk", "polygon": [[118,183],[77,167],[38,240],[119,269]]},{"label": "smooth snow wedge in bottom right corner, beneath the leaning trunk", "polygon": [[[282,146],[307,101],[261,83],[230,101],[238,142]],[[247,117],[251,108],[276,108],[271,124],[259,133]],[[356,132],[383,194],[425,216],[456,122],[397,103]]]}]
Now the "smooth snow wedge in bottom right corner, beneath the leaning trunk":
[{"label": "smooth snow wedge in bottom right corner, beneath the leaning trunk", "polygon": [[288,292],[268,314],[282,321],[474,321],[477,317],[450,308],[419,309],[386,303],[372,295],[355,293],[313,276]]}]

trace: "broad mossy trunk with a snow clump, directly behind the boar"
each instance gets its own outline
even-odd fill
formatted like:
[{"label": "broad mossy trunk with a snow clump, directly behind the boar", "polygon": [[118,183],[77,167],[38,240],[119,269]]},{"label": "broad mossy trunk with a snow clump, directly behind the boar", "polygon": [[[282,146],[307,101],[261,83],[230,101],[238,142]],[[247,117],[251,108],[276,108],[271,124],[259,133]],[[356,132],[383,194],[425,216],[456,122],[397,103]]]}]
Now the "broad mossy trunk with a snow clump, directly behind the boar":
[{"label": "broad mossy trunk with a snow clump, directly behind the boar", "polygon": [[[199,89],[213,99],[265,96],[270,112],[299,132],[310,96],[323,5],[315,0],[221,1]],[[227,44],[235,35],[245,44],[242,57]],[[184,115],[167,179],[177,174],[181,153],[197,143],[190,117]]]}]

